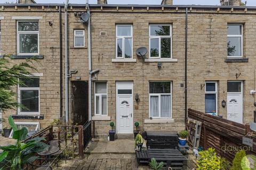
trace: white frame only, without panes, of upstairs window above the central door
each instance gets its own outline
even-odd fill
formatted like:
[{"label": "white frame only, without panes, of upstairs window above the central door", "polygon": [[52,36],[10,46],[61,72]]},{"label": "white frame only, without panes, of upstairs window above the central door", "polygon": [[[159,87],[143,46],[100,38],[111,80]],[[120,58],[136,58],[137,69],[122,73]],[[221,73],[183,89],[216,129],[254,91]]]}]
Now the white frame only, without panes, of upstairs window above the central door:
[{"label": "white frame only, without panes, of upstairs window above the central door", "polygon": [[[118,36],[117,35],[117,27],[118,26],[130,26],[131,27],[131,36]],[[117,50],[117,40],[118,39],[122,39],[122,49],[123,49],[123,53],[122,53],[122,57],[118,57],[118,50]],[[125,58],[125,39],[132,39],[132,57],[131,58]],[[116,59],[125,59],[125,60],[130,60],[133,58],[133,25],[132,24],[117,24],[116,25]]]}]

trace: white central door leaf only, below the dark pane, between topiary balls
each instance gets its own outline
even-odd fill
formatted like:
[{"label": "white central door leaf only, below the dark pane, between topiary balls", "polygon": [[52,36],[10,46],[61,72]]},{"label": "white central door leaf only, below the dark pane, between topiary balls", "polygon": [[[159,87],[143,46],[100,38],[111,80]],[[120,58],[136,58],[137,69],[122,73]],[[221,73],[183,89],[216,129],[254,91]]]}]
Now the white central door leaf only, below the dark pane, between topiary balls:
[{"label": "white central door leaf only, below the dark pane, between topiary balls", "polygon": [[118,133],[133,132],[133,104],[132,96],[118,96]]}]

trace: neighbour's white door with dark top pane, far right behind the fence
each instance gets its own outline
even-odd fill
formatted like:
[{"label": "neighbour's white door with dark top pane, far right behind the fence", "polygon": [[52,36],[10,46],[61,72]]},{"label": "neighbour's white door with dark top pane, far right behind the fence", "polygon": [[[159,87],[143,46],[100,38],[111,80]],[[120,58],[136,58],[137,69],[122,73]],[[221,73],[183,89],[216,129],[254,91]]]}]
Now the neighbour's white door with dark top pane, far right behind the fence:
[{"label": "neighbour's white door with dark top pane, far right behind the fence", "polygon": [[243,123],[243,82],[229,81],[227,96],[227,118]]}]

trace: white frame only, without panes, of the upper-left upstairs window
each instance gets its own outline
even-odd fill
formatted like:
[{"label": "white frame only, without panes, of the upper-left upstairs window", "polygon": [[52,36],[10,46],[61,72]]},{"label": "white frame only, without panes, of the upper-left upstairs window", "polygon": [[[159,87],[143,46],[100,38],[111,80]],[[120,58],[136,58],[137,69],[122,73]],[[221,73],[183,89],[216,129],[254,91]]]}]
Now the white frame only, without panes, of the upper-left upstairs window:
[{"label": "white frame only, without panes, of the upper-left upstairs window", "polygon": [[[38,22],[38,31],[19,31],[19,22]],[[37,53],[20,53],[20,34],[37,35]],[[17,21],[17,54],[18,55],[39,55],[39,21],[38,20],[20,20]]]}]

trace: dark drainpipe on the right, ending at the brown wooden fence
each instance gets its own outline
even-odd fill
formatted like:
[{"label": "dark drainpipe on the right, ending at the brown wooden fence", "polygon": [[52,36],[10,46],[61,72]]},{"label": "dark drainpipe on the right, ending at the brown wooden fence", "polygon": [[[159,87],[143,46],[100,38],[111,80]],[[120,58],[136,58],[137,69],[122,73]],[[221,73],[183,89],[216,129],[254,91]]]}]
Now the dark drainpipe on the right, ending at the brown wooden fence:
[{"label": "dark drainpipe on the right, ending at the brown wooden fence", "polygon": [[186,35],[185,35],[185,123],[187,122],[187,58],[188,58],[188,8],[186,8]]}]

